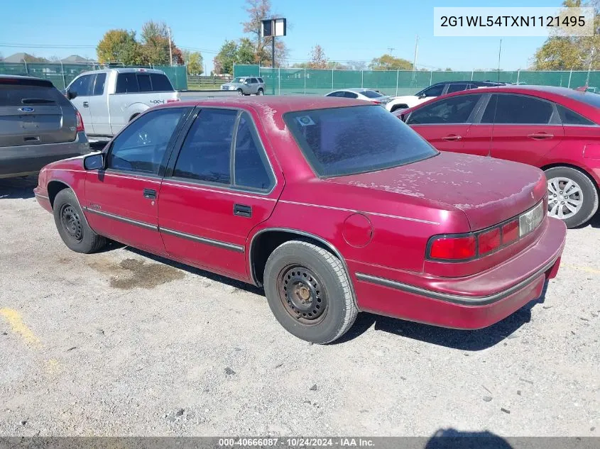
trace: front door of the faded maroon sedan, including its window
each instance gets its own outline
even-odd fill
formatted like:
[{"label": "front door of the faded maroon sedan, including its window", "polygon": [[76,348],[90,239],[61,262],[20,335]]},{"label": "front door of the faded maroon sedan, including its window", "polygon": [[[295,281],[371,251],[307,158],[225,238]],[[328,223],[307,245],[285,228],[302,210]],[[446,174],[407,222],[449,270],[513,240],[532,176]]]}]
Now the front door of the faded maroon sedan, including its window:
[{"label": "front door of the faded maroon sedan, including its window", "polygon": [[192,108],[149,111],[109,145],[105,168],[87,172],[89,226],[121,243],[164,254],[158,233],[158,201],[166,159]]}]

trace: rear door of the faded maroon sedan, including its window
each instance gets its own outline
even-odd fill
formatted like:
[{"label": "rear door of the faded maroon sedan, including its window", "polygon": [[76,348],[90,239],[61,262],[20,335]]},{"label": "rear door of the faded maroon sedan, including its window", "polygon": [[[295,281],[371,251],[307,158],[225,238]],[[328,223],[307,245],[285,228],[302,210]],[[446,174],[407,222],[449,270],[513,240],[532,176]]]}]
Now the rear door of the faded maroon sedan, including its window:
[{"label": "rear door of the faded maroon sedan, including its window", "polygon": [[246,239],[283,187],[258,130],[246,111],[197,114],[160,187],[158,225],[170,257],[249,279]]}]

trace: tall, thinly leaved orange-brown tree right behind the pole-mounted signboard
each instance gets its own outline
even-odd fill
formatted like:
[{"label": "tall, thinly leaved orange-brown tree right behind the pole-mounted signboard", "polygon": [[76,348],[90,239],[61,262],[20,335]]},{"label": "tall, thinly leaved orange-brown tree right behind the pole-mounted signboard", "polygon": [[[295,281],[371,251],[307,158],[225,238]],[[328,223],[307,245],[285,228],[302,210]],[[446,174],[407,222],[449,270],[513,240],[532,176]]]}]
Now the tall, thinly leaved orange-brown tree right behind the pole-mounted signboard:
[{"label": "tall, thinly leaved orange-brown tree right behind the pole-mounted signboard", "polygon": [[[261,36],[261,23],[263,20],[273,18],[271,12],[271,0],[246,0],[246,12],[248,21],[244,25],[244,33],[251,35],[250,40],[254,46],[254,63],[259,65],[271,66],[272,55],[271,46],[273,38],[263,38]],[[288,48],[281,39],[275,41],[275,64],[283,65],[288,57]]]}]

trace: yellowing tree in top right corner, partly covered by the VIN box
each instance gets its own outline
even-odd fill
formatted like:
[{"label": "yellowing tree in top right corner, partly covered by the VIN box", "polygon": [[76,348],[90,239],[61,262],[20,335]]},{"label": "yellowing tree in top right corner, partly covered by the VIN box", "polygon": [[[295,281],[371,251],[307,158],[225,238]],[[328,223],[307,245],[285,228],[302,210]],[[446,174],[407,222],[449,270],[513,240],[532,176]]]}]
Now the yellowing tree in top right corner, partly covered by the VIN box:
[{"label": "yellowing tree in top right corner, partly covered by the VIN box", "polygon": [[533,55],[533,68],[535,70],[571,70],[573,68],[600,69],[600,5],[598,1],[583,3],[582,0],[565,0],[562,6],[579,8],[582,6],[594,7],[593,36],[566,36],[561,35],[557,28],[545,43]]}]

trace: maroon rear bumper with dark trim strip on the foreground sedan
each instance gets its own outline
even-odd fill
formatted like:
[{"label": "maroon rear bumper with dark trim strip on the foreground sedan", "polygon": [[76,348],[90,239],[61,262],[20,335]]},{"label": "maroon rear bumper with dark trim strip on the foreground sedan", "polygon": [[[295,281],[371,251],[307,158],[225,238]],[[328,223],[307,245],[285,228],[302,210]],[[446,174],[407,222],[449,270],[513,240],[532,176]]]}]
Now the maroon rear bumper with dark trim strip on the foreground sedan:
[{"label": "maroon rear bumper with dark trim strip on the foreground sedan", "polygon": [[[566,234],[562,221],[549,218],[537,242],[517,257],[476,276],[446,278],[439,290],[357,272],[354,287],[359,308],[449,328],[491,326],[540,297],[546,279],[557,274]],[[517,277],[517,272],[526,275]],[[469,294],[469,287],[476,294]]]}]

